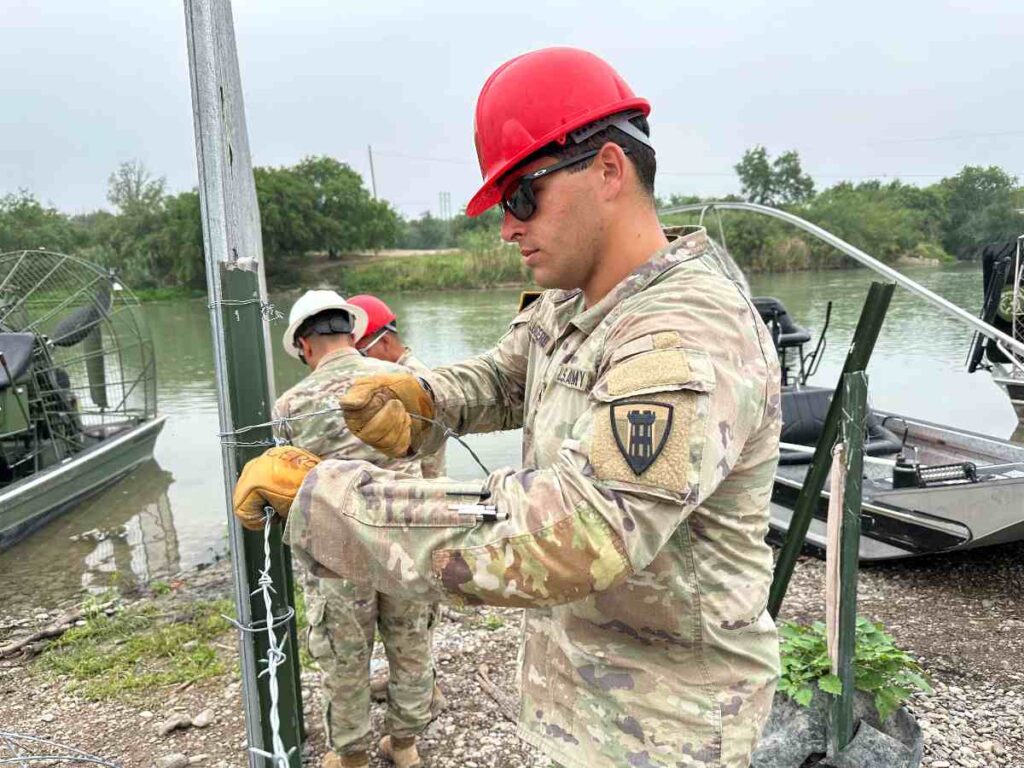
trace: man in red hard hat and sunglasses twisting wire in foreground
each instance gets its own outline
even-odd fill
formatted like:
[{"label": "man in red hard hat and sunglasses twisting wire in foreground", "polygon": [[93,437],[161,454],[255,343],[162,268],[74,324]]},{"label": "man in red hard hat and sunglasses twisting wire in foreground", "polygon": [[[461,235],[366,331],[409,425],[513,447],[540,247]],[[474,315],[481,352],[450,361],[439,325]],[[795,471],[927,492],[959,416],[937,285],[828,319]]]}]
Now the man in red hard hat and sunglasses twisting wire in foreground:
[{"label": "man in red hard hat and sunglasses twisting wire in foreground", "polygon": [[[778,676],[764,541],[778,361],[705,230],[662,232],[648,110],[583,51],[496,72],[467,213],[501,202],[503,238],[558,290],[488,352],[342,399],[352,432],[393,456],[439,438],[422,417],[521,426],[523,468],[483,488],[494,510],[356,461],[282,483],[297,496],[275,509],[308,557],[381,591],[528,608],[519,733],[559,764],[743,768]],[[268,476],[279,460],[254,462]]]}]

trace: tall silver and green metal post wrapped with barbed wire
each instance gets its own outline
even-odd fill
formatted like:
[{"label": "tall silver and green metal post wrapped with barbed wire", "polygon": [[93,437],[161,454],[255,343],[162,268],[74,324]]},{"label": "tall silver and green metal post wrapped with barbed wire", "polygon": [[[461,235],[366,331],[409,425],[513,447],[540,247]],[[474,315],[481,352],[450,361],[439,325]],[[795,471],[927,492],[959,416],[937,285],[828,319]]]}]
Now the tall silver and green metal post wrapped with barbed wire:
[{"label": "tall silver and green metal post wrapped with barbed wire", "polygon": [[[269,329],[264,319],[266,281],[260,236],[256,186],[246,134],[245,109],[229,0],[184,0],[185,31],[196,126],[203,246],[210,297],[214,368],[220,431],[266,422],[273,401],[269,357]],[[250,437],[252,434],[252,437]],[[251,442],[269,439],[250,433]],[[262,532],[249,532],[231,514],[231,490],[242,465],[260,446],[224,442],[224,497],[234,577],[234,601],[243,626],[267,618],[254,586],[263,561]],[[271,534],[271,612],[284,613],[293,600],[290,553],[282,545],[281,527]],[[302,700],[295,626],[289,628],[289,663],[278,669],[281,734],[286,748],[301,748]],[[240,638],[246,737],[249,746],[272,749],[268,679],[258,677],[258,665],[267,653],[265,633],[243,633]],[[250,753],[249,765],[263,761]],[[290,761],[301,765],[300,749]]]}]

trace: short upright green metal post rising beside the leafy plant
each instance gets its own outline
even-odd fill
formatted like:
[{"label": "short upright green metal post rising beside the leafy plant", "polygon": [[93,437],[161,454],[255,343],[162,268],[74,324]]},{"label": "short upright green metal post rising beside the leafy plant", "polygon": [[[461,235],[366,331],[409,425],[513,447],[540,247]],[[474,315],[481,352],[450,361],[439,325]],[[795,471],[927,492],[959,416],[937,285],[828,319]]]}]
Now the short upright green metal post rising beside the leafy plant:
[{"label": "short upright green metal post rising beside the leafy plant", "polygon": [[843,443],[846,484],[839,561],[839,664],[843,691],[831,700],[828,754],[846,749],[853,738],[854,658],[857,643],[857,566],[860,556],[860,499],[864,471],[864,430],[867,426],[867,375],[843,377]]}]

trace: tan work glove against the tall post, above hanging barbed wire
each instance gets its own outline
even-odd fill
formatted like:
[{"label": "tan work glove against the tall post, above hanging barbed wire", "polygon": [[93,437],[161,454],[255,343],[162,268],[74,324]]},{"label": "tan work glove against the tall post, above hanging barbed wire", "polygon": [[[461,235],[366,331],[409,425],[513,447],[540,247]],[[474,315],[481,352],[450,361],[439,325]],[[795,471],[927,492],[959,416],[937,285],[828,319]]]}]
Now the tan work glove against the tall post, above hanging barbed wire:
[{"label": "tan work glove against the tall post, above hanging barbed wire", "polygon": [[231,506],[234,516],[250,530],[263,527],[266,505],[282,518],[288,517],[299,486],[319,458],[294,445],[279,445],[248,462],[234,483]]}]

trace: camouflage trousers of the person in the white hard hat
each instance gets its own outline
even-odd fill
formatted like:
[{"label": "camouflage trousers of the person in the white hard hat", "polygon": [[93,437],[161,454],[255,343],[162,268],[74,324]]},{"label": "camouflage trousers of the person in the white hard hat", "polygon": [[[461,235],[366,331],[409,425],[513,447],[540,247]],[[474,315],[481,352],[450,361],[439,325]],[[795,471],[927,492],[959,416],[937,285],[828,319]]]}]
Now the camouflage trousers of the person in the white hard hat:
[{"label": "camouflage trousers of the person in the white hard hat", "polygon": [[323,674],[328,743],[346,754],[370,748],[370,659],[380,632],[390,670],[384,727],[419,733],[436,716],[431,654],[437,605],[411,602],[345,579],[304,579],[306,644]]}]

